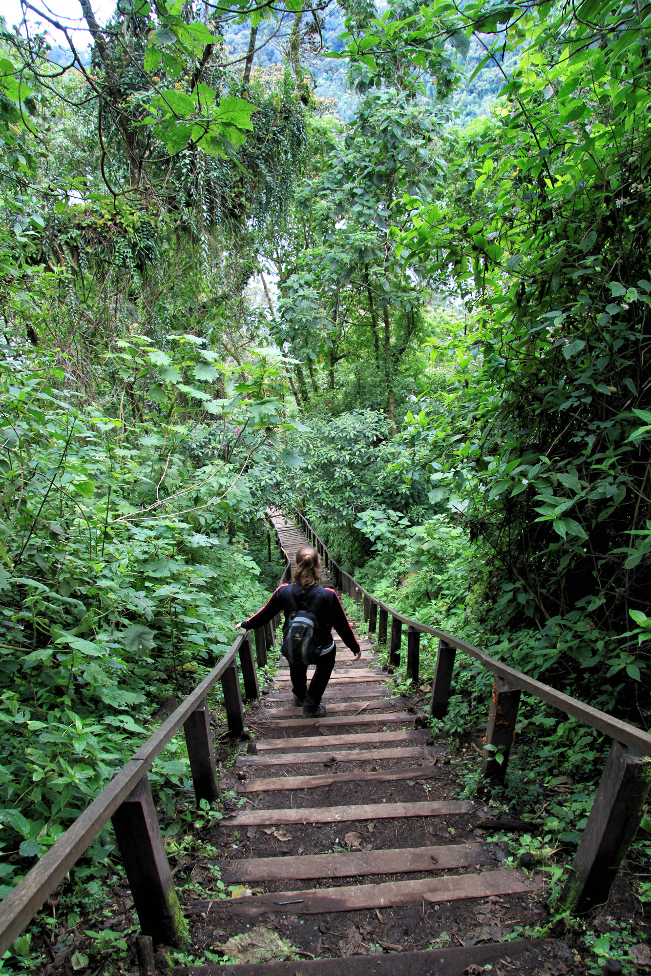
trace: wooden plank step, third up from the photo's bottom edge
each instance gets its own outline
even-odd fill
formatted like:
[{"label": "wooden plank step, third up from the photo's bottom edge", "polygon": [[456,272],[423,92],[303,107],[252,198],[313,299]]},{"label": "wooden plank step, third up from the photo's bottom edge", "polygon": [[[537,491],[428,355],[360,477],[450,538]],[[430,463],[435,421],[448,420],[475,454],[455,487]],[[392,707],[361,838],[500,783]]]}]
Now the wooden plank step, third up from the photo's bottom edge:
[{"label": "wooden plank step, third up from the photo's bottom edge", "polygon": [[[503,854],[502,854],[503,857]],[[399,850],[356,851],[352,854],[303,854],[300,857],[256,857],[212,861],[227,884],[243,881],[296,881],[302,878],[367,877],[370,874],[408,874],[452,871],[495,864],[495,844],[446,844],[401,847]]]}]

